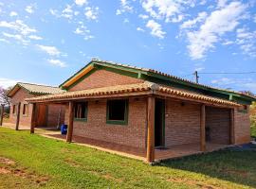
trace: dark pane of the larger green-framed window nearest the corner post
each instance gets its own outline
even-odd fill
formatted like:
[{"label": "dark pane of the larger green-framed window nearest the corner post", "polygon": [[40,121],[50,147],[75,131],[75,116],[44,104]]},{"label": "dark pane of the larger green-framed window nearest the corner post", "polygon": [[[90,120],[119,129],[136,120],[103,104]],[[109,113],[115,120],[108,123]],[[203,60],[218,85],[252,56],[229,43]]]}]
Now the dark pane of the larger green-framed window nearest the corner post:
[{"label": "dark pane of the larger green-framed window nearest the corner post", "polygon": [[125,120],[125,100],[110,100],[108,102],[109,120]]}]

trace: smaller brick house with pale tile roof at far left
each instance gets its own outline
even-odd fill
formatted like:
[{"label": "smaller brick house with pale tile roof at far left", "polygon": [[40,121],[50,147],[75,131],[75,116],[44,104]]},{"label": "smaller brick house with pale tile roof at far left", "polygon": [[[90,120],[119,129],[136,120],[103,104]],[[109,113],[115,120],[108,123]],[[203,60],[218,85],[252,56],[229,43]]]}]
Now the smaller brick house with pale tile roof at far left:
[{"label": "smaller brick house with pale tile roof at far left", "polygon": [[[18,82],[8,93],[10,97],[9,122],[19,125],[31,125],[32,105],[25,99],[45,94],[64,92],[58,87]],[[56,104],[37,104],[37,127],[56,127],[64,123],[64,106]],[[18,116],[19,115],[19,116]]]}]

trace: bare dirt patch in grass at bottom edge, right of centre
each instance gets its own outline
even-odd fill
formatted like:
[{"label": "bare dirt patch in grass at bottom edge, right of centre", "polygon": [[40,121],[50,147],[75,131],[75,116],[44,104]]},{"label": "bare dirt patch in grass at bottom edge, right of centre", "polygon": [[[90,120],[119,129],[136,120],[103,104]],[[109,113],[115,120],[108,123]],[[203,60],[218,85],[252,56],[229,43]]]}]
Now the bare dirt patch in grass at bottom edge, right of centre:
[{"label": "bare dirt patch in grass at bottom edge, right of centre", "polygon": [[181,179],[181,178],[170,178],[167,181],[171,181],[171,182],[175,182],[175,183],[184,183],[184,184],[188,184],[191,186],[197,186],[203,189],[219,189],[220,187],[218,186],[214,186],[214,185],[210,185],[210,184],[205,184],[202,183],[198,180],[187,180],[187,179]]}]

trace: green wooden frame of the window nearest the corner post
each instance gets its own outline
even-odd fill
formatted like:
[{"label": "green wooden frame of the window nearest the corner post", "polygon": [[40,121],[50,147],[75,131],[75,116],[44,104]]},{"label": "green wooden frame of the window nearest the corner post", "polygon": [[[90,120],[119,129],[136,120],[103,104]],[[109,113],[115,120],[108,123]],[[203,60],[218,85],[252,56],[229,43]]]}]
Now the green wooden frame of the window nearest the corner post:
[{"label": "green wooden frame of the window nearest the corner post", "polygon": [[[124,108],[124,120],[111,120],[109,119],[109,102],[112,100],[124,100],[125,108]],[[111,125],[128,125],[128,114],[129,114],[129,99],[110,99],[107,100],[106,106],[106,123]]]}]

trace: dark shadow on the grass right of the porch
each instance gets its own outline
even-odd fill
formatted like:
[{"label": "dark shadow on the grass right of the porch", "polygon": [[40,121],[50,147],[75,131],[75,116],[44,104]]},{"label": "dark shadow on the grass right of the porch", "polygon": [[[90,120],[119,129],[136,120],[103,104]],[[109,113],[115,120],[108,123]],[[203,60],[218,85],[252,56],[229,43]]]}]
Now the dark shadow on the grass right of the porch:
[{"label": "dark shadow on the grass right of the porch", "polygon": [[226,149],[204,155],[164,161],[159,165],[256,187],[256,151]]}]

